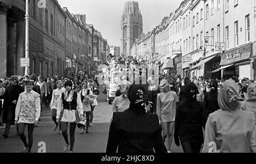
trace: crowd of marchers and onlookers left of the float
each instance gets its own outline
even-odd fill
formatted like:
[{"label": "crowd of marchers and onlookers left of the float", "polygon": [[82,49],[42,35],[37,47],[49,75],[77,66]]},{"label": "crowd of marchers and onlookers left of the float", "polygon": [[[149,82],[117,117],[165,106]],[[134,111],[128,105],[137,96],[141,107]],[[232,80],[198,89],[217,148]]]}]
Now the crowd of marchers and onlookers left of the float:
[{"label": "crowd of marchers and onlookers left of the float", "polygon": [[[53,131],[59,127],[59,134],[63,135],[65,140],[64,152],[68,149],[73,152],[76,126],[81,129],[80,134],[89,133],[89,126],[93,126],[93,111],[98,105],[97,96],[100,93],[93,86],[95,73],[81,72],[69,78],[57,74],[49,78],[32,74],[1,79],[0,126],[5,126],[2,136],[8,139],[10,127],[15,125],[16,136],[19,136],[24,144],[22,152],[31,152],[33,131],[40,122],[42,107],[50,107],[55,123]],[[24,135],[26,126],[28,142]]]}]

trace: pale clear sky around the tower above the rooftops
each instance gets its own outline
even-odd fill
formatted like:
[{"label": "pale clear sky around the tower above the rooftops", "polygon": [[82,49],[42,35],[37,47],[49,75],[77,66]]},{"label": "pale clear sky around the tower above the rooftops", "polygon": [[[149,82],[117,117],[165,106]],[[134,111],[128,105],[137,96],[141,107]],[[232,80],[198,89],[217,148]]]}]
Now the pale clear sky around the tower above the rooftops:
[{"label": "pale clear sky around the tower above the rooftops", "polygon": [[[71,14],[85,14],[86,23],[93,24],[108,40],[110,46],[121,45],[121,16],[127,0],[58,0]],[[143,20],[143,33],[159,25],[164,16],[170,16],[182,0],[137,0]]]}]

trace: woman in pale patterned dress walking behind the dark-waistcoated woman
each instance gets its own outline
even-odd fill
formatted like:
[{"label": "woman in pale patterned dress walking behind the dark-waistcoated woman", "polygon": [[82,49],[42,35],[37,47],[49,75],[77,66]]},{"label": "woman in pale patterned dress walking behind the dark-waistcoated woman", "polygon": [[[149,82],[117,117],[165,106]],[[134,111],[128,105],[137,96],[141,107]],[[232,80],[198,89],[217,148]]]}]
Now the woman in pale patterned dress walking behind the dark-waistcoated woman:
[{"label": "woman in pale patterned dress walking behind the dark-waistcoated woman", "polygon": [[59,134],[61,135],[61,125],[59,122],[57,122],[56,115],[57,115],[57,105],[59,98],[63,92],[65,92],[65,88],[63,88],[63,83],[61,80],[56,81],[57,89],[54,89],[52,92],[52,101],[51,101],[51,111],[52,111],[52,120],[55,123],[55,127],[53,128],[53,131],[56,131],[59,126]]}]

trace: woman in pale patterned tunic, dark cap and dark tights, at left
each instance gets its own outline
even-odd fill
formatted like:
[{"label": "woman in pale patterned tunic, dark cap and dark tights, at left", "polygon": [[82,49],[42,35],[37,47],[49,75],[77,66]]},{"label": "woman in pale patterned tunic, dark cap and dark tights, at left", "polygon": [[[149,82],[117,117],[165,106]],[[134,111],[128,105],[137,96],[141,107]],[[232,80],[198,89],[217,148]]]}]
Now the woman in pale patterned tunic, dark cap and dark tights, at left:
[{"label": "woman in pale patterned tunic, dark cap and dark tights, at left", "polygon": [[[31,153],[33,144],[34,126],[38,124],[40,117],[40,94],[32,90],[34,81],[25,82],[26,91],[19,94],[15,110],[15,125],[19,124],[19,136],[24,143],[23,153]],[[25,127],[28,129],[28,143],[24,135]]]}]

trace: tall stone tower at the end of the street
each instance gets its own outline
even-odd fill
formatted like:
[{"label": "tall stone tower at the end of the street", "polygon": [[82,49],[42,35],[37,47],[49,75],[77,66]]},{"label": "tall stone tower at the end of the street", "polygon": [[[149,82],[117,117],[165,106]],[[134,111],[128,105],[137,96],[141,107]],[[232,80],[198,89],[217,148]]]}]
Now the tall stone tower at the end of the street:
[{"label": "tall stone tower at the end of the street", "polygon": [[135,40],[143,33],[142,15],[138,2],[126,2],[121,19],[121,54],[130,56]]}]

